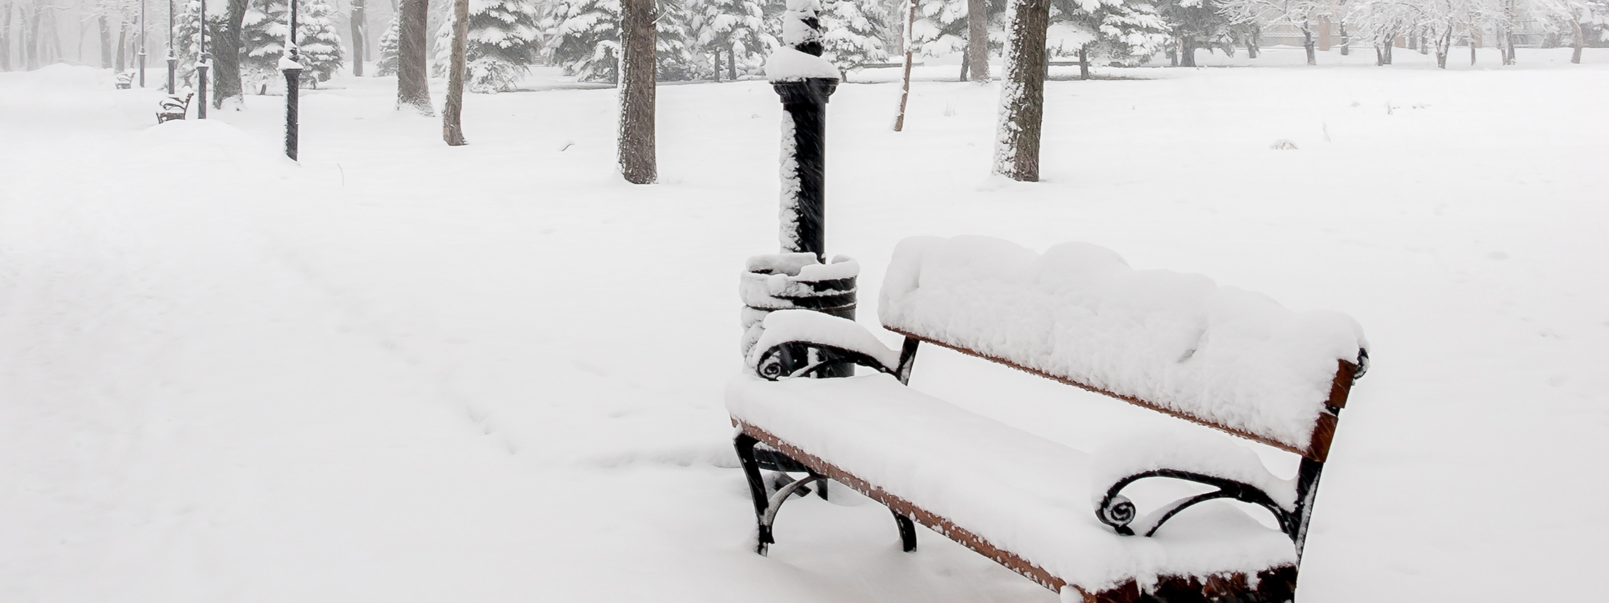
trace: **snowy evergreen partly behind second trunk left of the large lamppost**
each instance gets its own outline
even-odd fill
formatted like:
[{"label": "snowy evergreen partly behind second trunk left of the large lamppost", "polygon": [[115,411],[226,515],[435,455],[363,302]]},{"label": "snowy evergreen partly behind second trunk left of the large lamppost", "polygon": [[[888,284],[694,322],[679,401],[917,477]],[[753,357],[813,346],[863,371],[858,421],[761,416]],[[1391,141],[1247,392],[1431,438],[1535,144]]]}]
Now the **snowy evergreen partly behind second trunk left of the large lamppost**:
[{"label": "snowy evergreen partly behind second trunk left of the large lamppost", "polygon": [[[541,58],[542,23],[529,0],[471,0],[465,85],[470,92],[512,92]],[[446,76],[452,19],[436,32],[436,72]]]}]

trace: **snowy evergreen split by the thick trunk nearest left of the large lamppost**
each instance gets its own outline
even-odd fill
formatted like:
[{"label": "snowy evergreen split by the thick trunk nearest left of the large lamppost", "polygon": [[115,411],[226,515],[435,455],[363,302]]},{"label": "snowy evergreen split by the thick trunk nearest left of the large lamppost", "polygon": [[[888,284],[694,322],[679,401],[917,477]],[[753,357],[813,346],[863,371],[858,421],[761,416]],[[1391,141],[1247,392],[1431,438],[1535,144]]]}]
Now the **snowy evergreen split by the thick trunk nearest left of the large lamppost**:
[{"label": "snowy evergreen split by the thick trunk nearest left of the large lamppost", "polygon": [[[677,2],[660,2],[655,59],[660,79],[692,77],[687,16]],[[582,82],[619,80],[619,0],[560,0],[542,19],[549,64]]]}]

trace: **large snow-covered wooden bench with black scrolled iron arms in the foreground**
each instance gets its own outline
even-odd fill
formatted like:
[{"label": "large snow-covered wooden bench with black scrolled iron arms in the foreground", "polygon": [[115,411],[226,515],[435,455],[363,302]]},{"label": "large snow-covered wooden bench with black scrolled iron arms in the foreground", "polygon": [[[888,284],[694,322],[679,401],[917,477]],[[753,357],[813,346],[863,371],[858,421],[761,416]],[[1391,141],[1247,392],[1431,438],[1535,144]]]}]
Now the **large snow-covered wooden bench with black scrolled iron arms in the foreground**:
[{"label": "large snow-covered wooden bench with black scrolled iron arms in the foreground", "polygon": [[[771,312],[747,355],[753,373],[727,388],[761,555],[780,505],[832,479],[887,505],[906,552],[922,523],[1064,601],[1294,598],[1319,471],[1368,367],[1356,322],[1133,270],[1093,244],[1038,254],[978,236],[903,241],[879,317],[904,336],[899,351],[846,318]],[[1278,478],[1231,437],[1183,426],[1075,450],[907,388],[920,343],[1295,453],[1300,470]],[[875,371],[801,378],[843,360]],[[764,455],[804,476],[772,492]],[[1125,492],[1147,478],[1200,494],[1139,516]],[[1178,515],[1215,498],[1273,521],[1223,503]]]}]

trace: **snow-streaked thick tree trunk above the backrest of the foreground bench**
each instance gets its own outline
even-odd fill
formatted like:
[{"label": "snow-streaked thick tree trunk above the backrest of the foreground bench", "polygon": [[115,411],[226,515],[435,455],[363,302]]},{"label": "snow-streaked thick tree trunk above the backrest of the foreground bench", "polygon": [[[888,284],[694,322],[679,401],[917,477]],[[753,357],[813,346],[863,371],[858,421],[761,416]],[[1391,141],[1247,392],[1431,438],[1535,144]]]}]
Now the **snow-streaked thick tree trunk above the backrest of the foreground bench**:
[{"label": "snow-streaked thick tree trunk above the backrest of the foreground bench", "polygon": [[994,135],[994,174],[1039,182],[1039,135],[1044,122],[1044,35],[1051,24],[1047,0],[1014,0],[1006,85],[1001,88],[999,130]]}]

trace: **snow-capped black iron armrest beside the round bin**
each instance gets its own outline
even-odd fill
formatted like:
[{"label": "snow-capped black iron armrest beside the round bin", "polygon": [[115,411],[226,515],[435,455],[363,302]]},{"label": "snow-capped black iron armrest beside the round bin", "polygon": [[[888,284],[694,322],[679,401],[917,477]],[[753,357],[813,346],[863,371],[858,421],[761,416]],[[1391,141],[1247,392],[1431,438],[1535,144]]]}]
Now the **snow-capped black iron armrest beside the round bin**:
[{"label": "snow-capped black iron armrest beside the round bin", "polygon": [[814,310],[776,310],[747,363],[764,379],[808,376],[830,363],[853,362],[898,376],[899,352],[859,323]]}]

